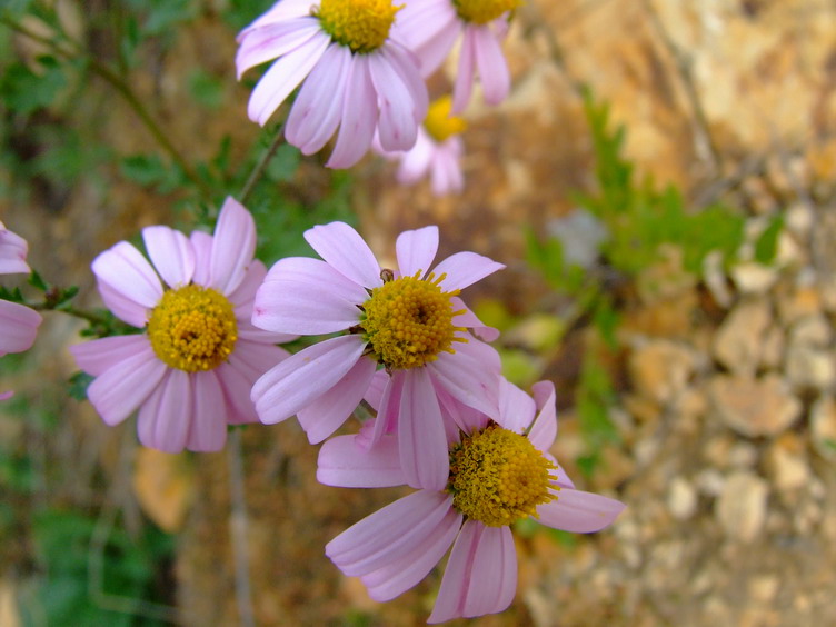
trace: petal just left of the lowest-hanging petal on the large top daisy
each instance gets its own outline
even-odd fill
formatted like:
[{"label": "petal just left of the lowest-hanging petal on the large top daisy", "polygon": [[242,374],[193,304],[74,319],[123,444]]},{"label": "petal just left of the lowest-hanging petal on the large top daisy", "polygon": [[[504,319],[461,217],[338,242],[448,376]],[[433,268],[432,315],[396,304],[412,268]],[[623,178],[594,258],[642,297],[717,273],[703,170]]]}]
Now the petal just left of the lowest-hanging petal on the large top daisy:
[{"label": "petal just left of the lowest-hanging petal on the large top daisy", "polygon": [[321,150],[340,120],[351,50],[330,46],[299,90],[288,116],[285,137],[302,153]]}]

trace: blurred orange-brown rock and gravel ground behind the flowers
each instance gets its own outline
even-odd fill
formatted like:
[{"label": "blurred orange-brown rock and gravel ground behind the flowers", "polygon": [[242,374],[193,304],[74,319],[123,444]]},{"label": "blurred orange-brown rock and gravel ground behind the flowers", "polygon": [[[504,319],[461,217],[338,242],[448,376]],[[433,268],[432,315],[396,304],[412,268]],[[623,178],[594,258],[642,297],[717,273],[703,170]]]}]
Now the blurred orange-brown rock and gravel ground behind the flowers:
[{"label": "blurred orange-brown rock and gravel ground behind the flowers", "polygon": [[[508,265],[470,298],[501,295],[518,316],[546,290],[521,261],[521,227],[545,232],[573,209],[573,190],[593,186],[581,84],[627,127],[626,152],[640,176],[678,186],[695,208],[734,203],[750,241],[784,215],[769,266],[744,250],[733,267],[709,268],[697,280],[677,263],[659,263],[645,277],[656,289],[624,296],[624,349],[610,365],[620,441],[601,450],[588,480],[574,466],[584,442],[571,394],[584,329],[545,365],[563,390],[558,460],[579,487],[628,508],[595,537],[518,537],[515,604],[476,624],[836,624],[835,36],[836,8],[824,0],[529,0],[506,44],[511,97],[498,108],[477,99],[468,112],[461,196],[400,188],[390,167],[372,159],[359,169],[352,203],[380,255],[391,253],[400,230],[439,223],[440,255],[471,249]],[[223,132],[245,142],[255,136],[243,88],[230,91],[211,125],[177,106],[186,68],[230,76],[233,51],[208,12],[140,77],[138,88],[155,96],[173,138],[198,155]],[[437,80],[444,88],[448,79]],[[116,106],[103,122],[120,129],[113,141],[126,150],[150,142],[130,116]],[[299,176],[301,187],[316,185],[314,166]],[[2,219],[21,225],[34,266],[74,281],[98,250],[168,219],[165,205],[135,187],[107,199],[92,185],[58,191],[36,206],[2,207]],[[90,287],[82,290],[94,302]],[[77,325],[54,318],[34,350],[39,366],[21,375],[19,390],[44,389],[44,371],[61,386],[73,370],[51,346],[74,341]],[[70,505],[103,494],[100,520],[112,524],[119,512],[130,529],[148,516],[177,533],[166,583],[176,609],[140,609],[183,625],[236,625],[249,613],[265,626],[426,620],[438,574],[379,605],[322,555],[328,539],[402,492],[317,485],[316,448],[293,421],[242,432],[241,481],[235,454],[139,450],[132,421],[106,429],[89,406],[60,394],[52,402],[61,424],[47,442],[36,427],[0,421],[2,437],[34,451],[43,498]],[[64,477],[56,467],[74,471]],[[251,606],[243,608],[230,545],[236,526],[250,559]],[[3,549],[0,600],[26,600],[21,565],[30,550],[23,543]],[[17,620],[13,605],[0,603],[0,624]]]}]

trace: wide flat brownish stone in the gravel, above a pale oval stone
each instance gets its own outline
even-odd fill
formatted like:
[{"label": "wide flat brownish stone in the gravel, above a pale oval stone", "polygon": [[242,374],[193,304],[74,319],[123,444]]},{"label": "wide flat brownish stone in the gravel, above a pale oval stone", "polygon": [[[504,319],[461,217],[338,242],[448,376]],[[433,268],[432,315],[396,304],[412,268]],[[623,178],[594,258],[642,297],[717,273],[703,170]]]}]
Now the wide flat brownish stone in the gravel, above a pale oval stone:
[{"label": "wide flat brownish stone in the gravel, above a pale oval stone", "polygon": [[780,434],[802,412],[800,400],[774,374],[760,379],[716,375],[708,384],[708,394],[723,421],[750,438]]}]

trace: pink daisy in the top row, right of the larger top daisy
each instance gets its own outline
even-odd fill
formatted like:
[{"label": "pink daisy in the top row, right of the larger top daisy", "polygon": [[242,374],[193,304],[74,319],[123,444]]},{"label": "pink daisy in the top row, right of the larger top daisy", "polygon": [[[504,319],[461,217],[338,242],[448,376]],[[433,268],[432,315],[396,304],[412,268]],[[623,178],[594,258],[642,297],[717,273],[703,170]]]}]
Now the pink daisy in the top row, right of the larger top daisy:
[{"label": "pink daisy in the top row, right of the larger top daisy", "polygon": [[399,16],[397,37],[418,57],[421,73],[435,72],[462,37],[458,73],[452,90],[452,111],[467,107],[478,72],[485,101],[497,104],[510,89],[508,64],[500,39],[509,13],[521,0],[411,0]]}]

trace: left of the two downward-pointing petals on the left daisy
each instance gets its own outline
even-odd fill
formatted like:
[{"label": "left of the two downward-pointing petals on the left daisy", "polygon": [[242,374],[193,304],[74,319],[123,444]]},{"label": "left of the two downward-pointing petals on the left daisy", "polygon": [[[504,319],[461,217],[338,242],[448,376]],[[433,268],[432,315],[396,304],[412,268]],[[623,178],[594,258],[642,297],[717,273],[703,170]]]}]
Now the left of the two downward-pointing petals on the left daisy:
[{"label": "left of the two downward-pointing petals on the left daisy", "polygon": [[142,446],[163,452],[186,448],[193,412],[189,374],[169,369],[139,410],[137,434]]}]

